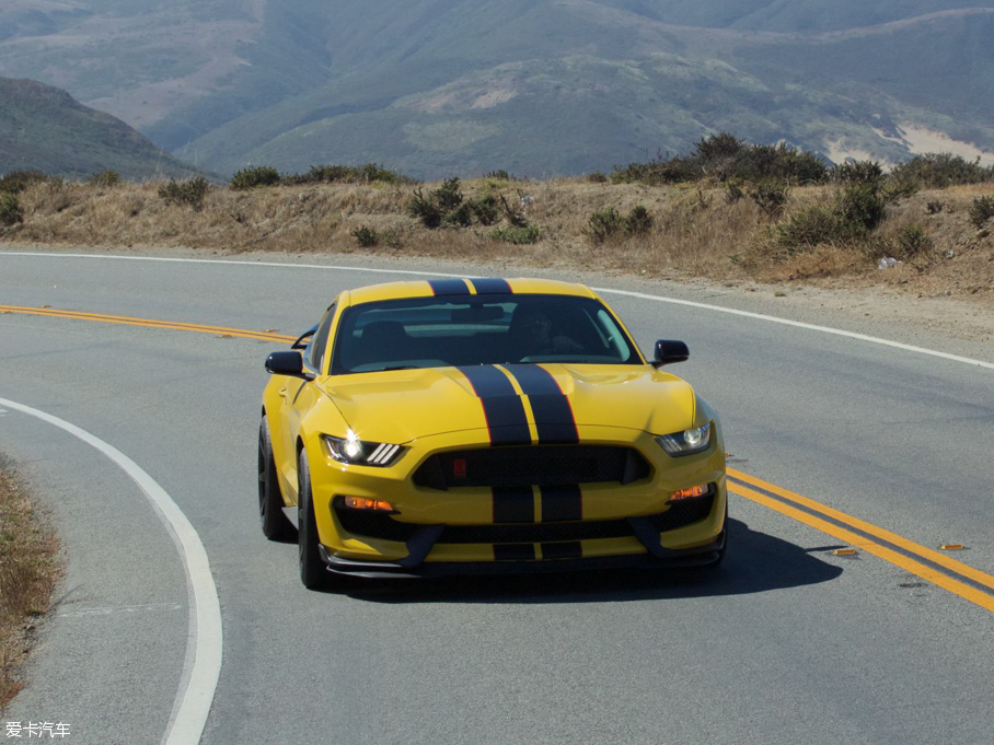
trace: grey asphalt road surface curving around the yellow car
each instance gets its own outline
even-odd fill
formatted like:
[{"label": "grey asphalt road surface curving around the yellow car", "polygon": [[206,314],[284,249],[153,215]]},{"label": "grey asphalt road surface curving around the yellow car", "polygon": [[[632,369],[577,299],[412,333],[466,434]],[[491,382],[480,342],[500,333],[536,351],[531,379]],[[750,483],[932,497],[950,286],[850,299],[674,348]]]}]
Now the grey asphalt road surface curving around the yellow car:
[{"label": "grey asphalt road surface curving around the yellow car", "polygon": [[[431,267],[405,267],[425,269]],[[302,330],[383,275],[0,253],[0,304]],[[597,281],[597,278],[591,281]],[[617,287],[623,287],[615,282]],[[686,298],[694,299],[692,293]],[[994,372],[698,309],[609,296],[721,412],[736,468],[994,573]],[[994,741],[994,617],[732,497],[712,575],[365,583],[311,593],[256,519],[264,341],[0,315],[0,398],[125,452],[199,533],[223,665],[203,742]],[[187,654],[176,548],[96,451],[16,411],[0,452],[50,504],[69,563],[31,684],[0,720],[158,743]]]}]

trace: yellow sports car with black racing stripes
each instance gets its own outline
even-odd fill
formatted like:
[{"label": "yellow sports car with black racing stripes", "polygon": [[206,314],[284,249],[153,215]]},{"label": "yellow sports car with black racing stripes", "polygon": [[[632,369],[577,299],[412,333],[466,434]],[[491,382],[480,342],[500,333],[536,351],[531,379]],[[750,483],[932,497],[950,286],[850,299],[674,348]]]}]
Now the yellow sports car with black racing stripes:
[{"label": "yellow sports car with black racing stripes", "polygon": [[314,587],[360,577],[716,564],[718,417],[590,289],[434,279],[343,292],[266,361],[263,533]]}]

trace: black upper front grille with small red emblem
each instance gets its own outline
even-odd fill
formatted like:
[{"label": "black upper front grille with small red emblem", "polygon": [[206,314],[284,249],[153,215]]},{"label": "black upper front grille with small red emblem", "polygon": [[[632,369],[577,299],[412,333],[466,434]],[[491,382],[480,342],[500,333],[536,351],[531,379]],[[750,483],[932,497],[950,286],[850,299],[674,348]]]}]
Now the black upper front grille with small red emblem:
[{"label": "black upper front grille with small red emblem", "polygon": [[415,472],[414,482],[440,490],[611,481],[625,485],[649,473],[649,464],[632,447],[528,445],[437,453]]}]

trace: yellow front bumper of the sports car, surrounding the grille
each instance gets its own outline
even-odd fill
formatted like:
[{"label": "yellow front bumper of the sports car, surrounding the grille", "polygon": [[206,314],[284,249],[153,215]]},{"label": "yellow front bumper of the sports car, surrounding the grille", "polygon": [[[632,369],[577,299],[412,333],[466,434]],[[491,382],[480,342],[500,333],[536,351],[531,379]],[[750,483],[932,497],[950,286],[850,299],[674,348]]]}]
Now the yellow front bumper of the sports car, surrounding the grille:
[{"label": "yellow front bumper of the sports car, surrounding the grille", "polygon": [[[553,515],[548,508],[557,504],[554,496],[535,487],[534,512],[530,513],[534,523],[525,516],[519,524],[516,520],[507,524],[497,515],[496,490],[467,487],[440,491],[413,481],[413,474],[428,457],[472,446],[466,441],[472,436],[454,433],[412,443],[405,457],[389,468],[343,467],[324,457],[311,457],[315,519],[330,571],[361,577],[435,577],[701,566],[717,560],[724,547],[727,492],[720,438],[706,453],[671,458],[644,432],[581,428],[583,443],[636,449],[648,462],[650,473],[625,485],[580,485],[576,488],[582,502],[580,514],[562,514],[558,521],[550,520]],[[662,517],[674,514],[675,505],[669,503],[672,493],[705,482],[715,485],[705,511],[693,521],[663,524]],[[347,527],[343,523],[348,521],[334,507],[343,494],[389,501],[398,512],[396,522],[407,532],[388,535]],[[523,507],[525,512],[530,510]],[[600,526],[606,532],[599,532]],[[571,533],[574,528],[576,534]]]}]

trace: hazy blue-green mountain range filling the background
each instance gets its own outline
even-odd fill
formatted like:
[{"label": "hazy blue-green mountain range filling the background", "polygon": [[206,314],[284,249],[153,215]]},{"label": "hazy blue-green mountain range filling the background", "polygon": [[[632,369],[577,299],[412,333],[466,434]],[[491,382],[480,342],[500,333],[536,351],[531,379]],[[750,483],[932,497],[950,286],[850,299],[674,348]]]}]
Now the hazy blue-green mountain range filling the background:
[{"label": "hazy blue-green mountain range filling the background", "polygon": [[725,130],[833,160],[946,149],[925,130],[994,152],[994,0],[150,4],[10,0],[0,73],[227,174],[609,172]]}]

